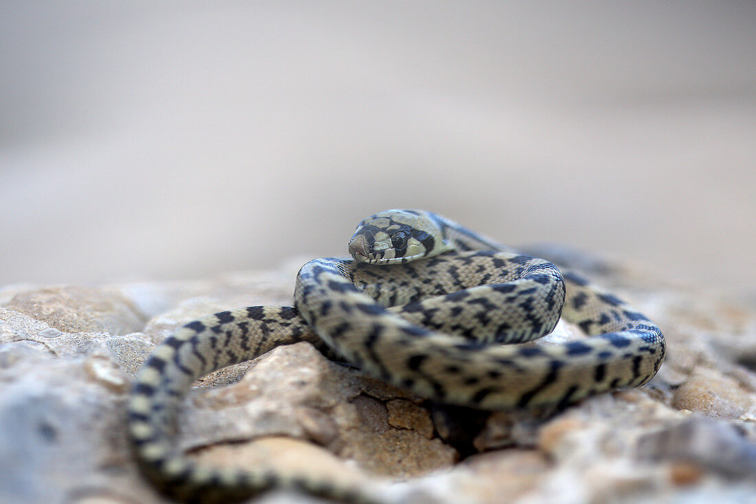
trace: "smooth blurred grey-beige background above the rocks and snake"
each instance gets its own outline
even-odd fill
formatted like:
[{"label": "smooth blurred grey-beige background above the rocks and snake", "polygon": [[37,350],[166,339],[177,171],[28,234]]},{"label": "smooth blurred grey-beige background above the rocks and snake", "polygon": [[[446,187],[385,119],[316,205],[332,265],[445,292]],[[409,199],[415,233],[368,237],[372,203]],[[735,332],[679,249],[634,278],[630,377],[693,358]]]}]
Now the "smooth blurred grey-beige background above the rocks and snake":
[{"label": "smooth blurred grey-beige background above the rocks and snake", "polygon": [[753,2],[3,2],[0,284],[344,254],[421,207],[754,291]]}]

